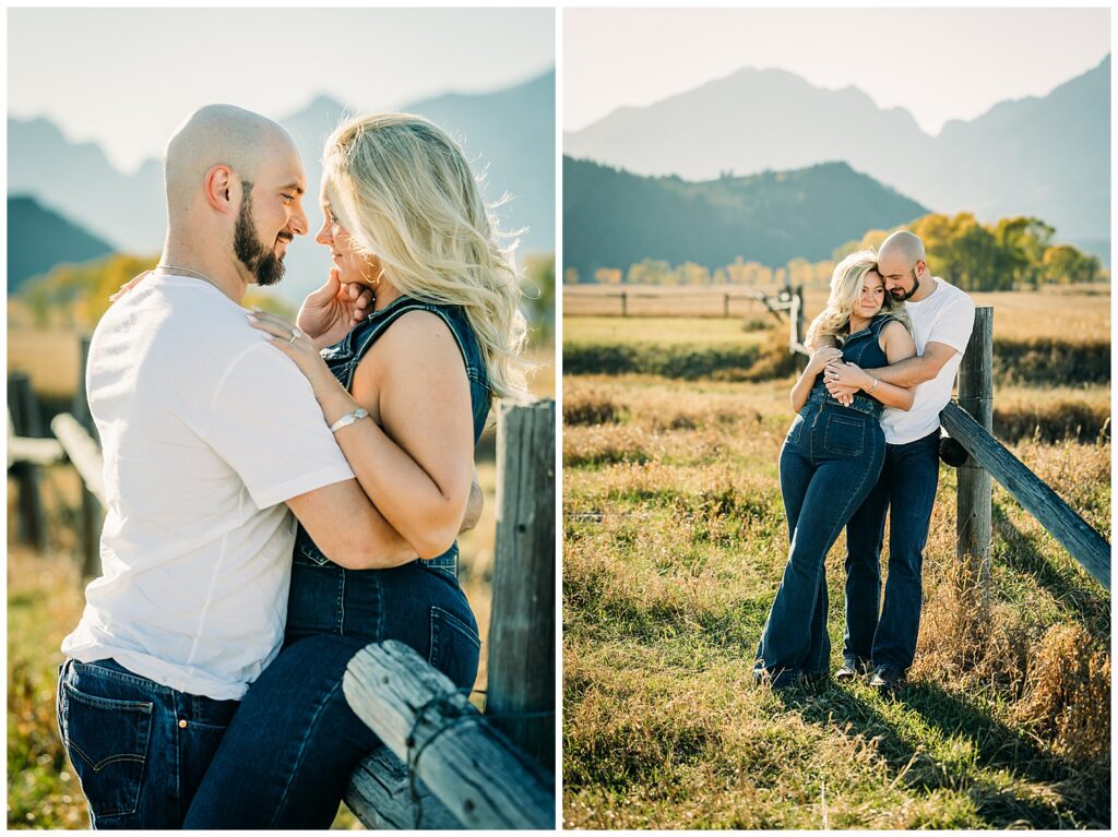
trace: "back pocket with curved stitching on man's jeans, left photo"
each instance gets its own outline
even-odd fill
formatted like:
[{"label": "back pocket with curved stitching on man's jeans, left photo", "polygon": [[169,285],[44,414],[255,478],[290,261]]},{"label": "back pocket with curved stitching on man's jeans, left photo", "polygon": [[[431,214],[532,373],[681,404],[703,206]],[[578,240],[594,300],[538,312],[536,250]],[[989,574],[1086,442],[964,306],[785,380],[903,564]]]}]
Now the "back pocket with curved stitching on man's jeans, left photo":
[{"label": "back pocket with curved stitching on man's jeans, left photo", "polygon": [[153,704],[79,692],[63,683],[59,727],[95,817],[134,814],[148,762]]}]

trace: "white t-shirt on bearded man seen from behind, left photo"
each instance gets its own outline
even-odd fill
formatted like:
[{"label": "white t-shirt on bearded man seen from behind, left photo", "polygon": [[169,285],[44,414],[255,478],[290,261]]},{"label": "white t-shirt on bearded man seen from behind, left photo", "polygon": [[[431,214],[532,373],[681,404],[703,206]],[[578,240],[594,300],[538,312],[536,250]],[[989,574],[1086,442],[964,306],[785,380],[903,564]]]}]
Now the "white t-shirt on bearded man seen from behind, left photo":
[{"label": "white t-shirt on bearded man seen from behind, left photo", "polygon": [[152,275],[89,346],[105,456],[104,574],[63,651],[217,700],[280,650],[295,521],[350,479],[311,386],[212,285]]}]

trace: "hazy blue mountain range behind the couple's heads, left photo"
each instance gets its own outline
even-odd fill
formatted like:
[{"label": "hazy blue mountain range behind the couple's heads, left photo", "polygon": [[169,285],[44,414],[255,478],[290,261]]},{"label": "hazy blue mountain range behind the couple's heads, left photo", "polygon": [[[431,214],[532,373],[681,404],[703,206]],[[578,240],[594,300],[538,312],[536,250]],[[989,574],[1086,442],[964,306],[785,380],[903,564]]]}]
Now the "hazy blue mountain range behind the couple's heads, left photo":
[{"label": "hazy blue mountain range behind the couple's heads, left photo", "polygon": [[[521,253],[555,249],[555,70],[489,94],[449,94],[415,102],[417,113],[449,130],[476,173],[485,173],[485,194],[510,200],[498,210],[508,230],[527,228]],[[330,261],[312,240],[321,226],[318,187],[323,141],[344,114],[357,113],[328,96],[277,120],[292,134],[303,159],[312,230],[286,258],[287,278],[277,292],[292,301],[325,278]],[[48,120],[8,120],[8,193],[30,194],[104,239],[113,248],[158,255],[163,246],[162,163],[146,161],[122,174],[93,143],[69,142]],[[9,248],[12,239],[9,238]]]}]

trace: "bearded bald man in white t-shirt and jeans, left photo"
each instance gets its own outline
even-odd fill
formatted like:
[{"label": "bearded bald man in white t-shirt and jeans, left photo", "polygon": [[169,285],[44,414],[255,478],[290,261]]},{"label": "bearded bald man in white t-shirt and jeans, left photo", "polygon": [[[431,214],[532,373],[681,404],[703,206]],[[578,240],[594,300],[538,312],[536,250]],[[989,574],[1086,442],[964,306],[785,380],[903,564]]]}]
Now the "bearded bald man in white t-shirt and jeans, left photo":
[{"label": "bearded bald man in white t-shirt and jeans, left photo", "polygon": [[238,305],[249,284],[281,279],[307,231],[291,137],[203,107],[171,139],[165,179],[159,267],[89,349],[104,574],[63,641],[58,721],[95,828],[181,826],[239,698],[280,649],[288,508],[343,567],[416,554],[358,485],[305,377]]}]

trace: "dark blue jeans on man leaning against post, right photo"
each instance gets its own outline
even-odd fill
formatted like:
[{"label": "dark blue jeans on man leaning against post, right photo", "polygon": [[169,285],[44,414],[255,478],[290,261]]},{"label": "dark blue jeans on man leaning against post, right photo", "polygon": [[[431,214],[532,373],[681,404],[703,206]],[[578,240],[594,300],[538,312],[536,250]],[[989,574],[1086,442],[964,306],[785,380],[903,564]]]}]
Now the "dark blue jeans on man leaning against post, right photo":
[{"label": "dark blue jeans on man leaning against post, right photo", "polygon": [[[939,430],[885,445],[881,478],[846,526],[846,634],[843,658],[904,673],[916,656],[921,573],[939,482]],[[881,601],[881,548],[889,512],[889,579]]]}]

